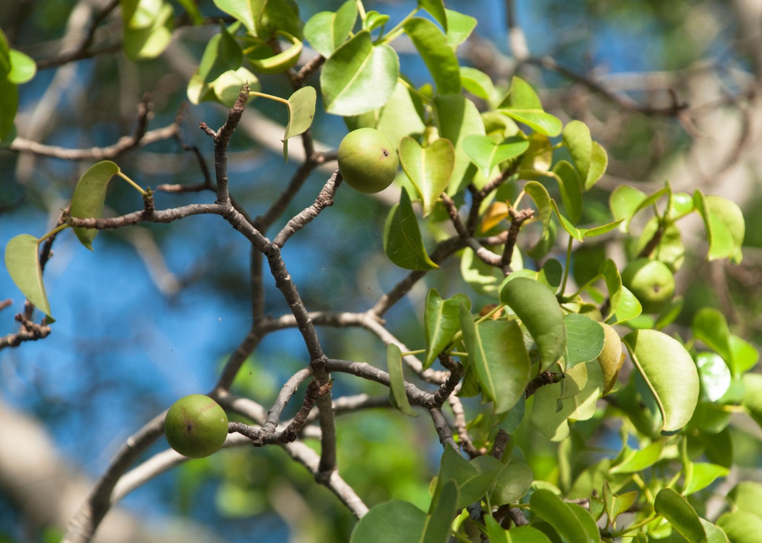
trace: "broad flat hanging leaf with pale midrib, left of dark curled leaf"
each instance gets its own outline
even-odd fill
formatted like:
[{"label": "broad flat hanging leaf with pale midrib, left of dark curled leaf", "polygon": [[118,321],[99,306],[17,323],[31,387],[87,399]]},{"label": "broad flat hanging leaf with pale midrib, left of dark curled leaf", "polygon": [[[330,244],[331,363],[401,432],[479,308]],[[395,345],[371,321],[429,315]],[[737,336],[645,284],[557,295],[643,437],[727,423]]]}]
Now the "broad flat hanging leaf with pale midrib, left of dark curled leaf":
[{"label": "broad flat hanging leaf with pale midrib, left of dark curled leaf", "polygon": [[516,321],[487,320],[475,324],[466,306],[460,308],[460,326],[485,397],[495,402],[495,413],[507,413],[523,396],[532,379],[532,363]]}]

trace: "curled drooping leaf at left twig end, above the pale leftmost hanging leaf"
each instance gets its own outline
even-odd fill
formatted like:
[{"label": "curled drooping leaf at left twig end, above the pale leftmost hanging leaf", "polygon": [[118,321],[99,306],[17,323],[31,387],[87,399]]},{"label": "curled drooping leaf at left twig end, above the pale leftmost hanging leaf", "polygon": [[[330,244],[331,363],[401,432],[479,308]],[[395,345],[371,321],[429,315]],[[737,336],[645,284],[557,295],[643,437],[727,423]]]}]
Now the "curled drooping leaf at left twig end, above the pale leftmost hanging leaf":
[{"label": "curled drooping leaf at left twig end, above the pale leftmost hanging leaf", "polygon": [[[79,178],[74,189],[71,216],[80,219],[101,218],[108,182],[118,171],[119,166],[108,160],[100,161],[88,168],[88,171]],[[74,233],[86,248],[93,250],[93,240],[98,234],[96,228],[74,228]]]}]

